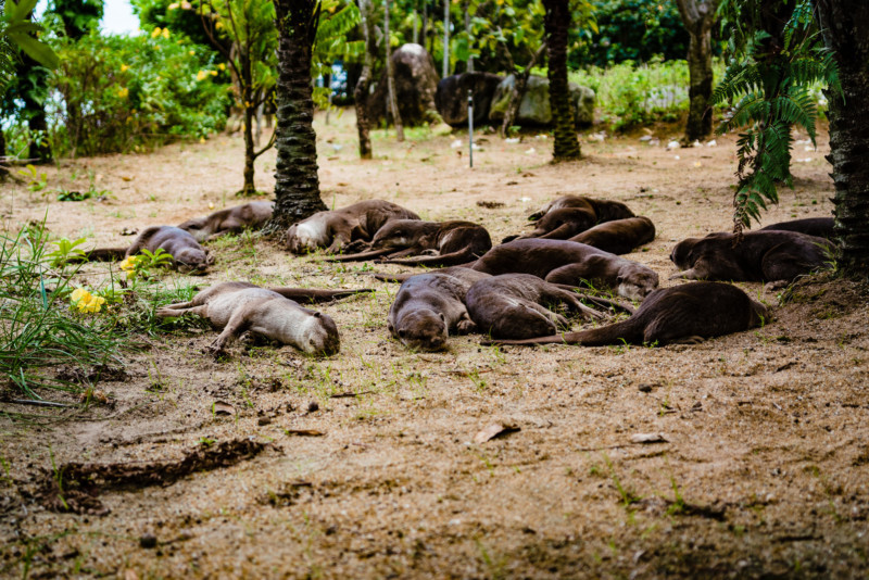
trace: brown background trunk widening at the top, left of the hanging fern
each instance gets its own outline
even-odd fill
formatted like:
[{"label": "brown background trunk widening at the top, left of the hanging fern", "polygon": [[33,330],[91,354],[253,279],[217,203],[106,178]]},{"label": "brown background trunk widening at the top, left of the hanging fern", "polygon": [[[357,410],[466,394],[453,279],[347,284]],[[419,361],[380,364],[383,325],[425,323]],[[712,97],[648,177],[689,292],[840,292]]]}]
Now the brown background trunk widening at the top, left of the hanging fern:
[{"label": "brown background trunk widening at the top, left of the hanging fern", "polygon": [[705,139],[713,133],[711,27],[721,0],[677,0],[688,30],[689,111],[685,142]]}]

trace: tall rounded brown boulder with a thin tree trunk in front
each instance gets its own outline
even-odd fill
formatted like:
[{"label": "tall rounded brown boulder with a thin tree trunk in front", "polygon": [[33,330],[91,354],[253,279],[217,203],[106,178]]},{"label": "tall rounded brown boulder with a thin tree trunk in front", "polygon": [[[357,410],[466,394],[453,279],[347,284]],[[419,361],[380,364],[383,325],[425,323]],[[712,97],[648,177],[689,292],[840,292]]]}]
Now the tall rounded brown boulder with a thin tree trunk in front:
[{"label": "tall rounded brown boulder with a thin tree trunk in front", "polygon": [[[434,92],[440,77],[431,55],[419,45],[407,43],[399,47],[391,59],[402,124],[421,125],[440,121],[434,106]],[[385,67],[374,94],[368,98],[368,118],[371,122],[380,123],[383,118],[392,121],[392,114],[388,111],[388,94]]]}]

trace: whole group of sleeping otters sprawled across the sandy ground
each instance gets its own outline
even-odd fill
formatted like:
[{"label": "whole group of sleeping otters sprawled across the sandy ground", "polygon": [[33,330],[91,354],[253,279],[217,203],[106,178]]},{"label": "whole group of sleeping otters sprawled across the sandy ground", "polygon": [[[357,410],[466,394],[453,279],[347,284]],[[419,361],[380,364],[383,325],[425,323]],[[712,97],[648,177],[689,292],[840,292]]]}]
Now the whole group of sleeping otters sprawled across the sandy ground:
[{"label": "whole group of sleeping otters sprawled across the sandy ground", "polygon": [[[90,252],[91,260],[114,260],[147,249],[162,249],[181,270],[204,270],[213,256],[200,242],[270,217],[273,203],[247,203],[190,219],[177,227],[142,231],[129,248]],[[429,266],[424,274],[376,275],[401,281],[389,311],[390,333],[411,349],[439,351],[451,335],[478,331],[484,344],[697,342],[758,326],[768,308],[729,283],[695,281],[658,289],[658,275],[619,254],[652,241],[655,226],[617,201],[566,196],[529,216],[534,229],[492,248],[489,232],[471,222],[425,222],[414,212],[382,200],[325,211],[291,226],[289,250],[300,254],[327,248],[331,262],[377,259],[385,263]],[[670,260],[689,280],[790,282],[822,268],[834,244],[832,218],[807,218],[747,231],[709,234],[676,244]],[[738,241],[738,243],[734,243]],[[635,311],[619,300],[579,293],[591,285],[618,297],[642,301]],[[244,331],[291,344],[312,354],[335,354],[338,327],[326,314],[299,302],[323,302],[363,290],[261,288],[223,282],[189,302],[158,310],[161,317],[186,313],[223,329],[209,350],[214,354]],[[299,302],[298,302],[299,301]],[[558,306],[584,318],[606,319],[582,301],[630,316],[619,323],[566,332]]]}]

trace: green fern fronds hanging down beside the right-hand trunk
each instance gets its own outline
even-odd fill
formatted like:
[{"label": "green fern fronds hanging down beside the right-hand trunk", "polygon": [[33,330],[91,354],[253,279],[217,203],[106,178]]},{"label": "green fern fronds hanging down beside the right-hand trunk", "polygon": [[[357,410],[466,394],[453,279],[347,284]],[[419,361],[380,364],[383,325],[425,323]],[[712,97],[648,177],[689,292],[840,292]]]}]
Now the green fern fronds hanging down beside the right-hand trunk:
[{"label": "green fern fronds hanging down beside the right-hand trunk", "polygon": [[832,53],[813,28],[810,0],[792,1],[790,18],[778,37],[763,29],[764,15],[757,0],[722,4],[723,27],[729,31],[729,51],[734,58],[713,92],[713,102],[738,100],[719,133],[745,129],[736,141],[736,234],[752,219],[760,220],[767,202],[778,203],[778,185],[792,187],[791,127],[802,127],[815,142],[816,86],[839,87]]}]

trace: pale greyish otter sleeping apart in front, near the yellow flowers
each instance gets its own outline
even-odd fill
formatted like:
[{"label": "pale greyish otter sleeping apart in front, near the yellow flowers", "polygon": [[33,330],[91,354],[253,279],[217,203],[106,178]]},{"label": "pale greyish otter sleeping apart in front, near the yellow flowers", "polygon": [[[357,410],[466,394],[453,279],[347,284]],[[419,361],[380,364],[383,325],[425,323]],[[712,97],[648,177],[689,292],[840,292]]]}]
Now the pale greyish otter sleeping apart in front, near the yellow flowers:
[{"label": "pale greyish otter sleeping apart in front, near the yellow flowers", "polygon": [[307,310],[295,300],[325,301],[369,290],[314,290],[307,288],[261,288],[249,282],[223,282],[199,292],[189,302],[168,304],[159,317],[196,314],[207,318],[221,335],[209,345],[215,354],[245,330],[308,354],[338,352],[338,327],[328,315]]}]

